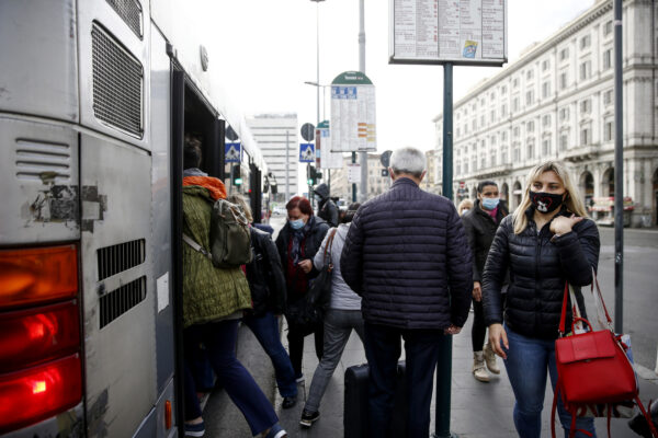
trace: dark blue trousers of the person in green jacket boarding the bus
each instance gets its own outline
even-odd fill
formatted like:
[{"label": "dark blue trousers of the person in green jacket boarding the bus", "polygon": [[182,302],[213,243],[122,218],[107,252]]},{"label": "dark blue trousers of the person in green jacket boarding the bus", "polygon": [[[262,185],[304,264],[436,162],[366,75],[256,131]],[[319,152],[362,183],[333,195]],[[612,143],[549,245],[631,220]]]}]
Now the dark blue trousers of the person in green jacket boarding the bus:
[{"label": "dark blue trousers of the person in green jacket boarding the bus", "polygon": [[[205,345],[217,381],[245,415],[251,435],[256,436],[279,422],[270,401],[236,357],[238,320],[191,325],[183,331],[183,336],[185,345]],[[185,419],[194,419],[201,416],[201,406],[191,371],[193,355],[189,351],[192,349],[185,348]]]}]

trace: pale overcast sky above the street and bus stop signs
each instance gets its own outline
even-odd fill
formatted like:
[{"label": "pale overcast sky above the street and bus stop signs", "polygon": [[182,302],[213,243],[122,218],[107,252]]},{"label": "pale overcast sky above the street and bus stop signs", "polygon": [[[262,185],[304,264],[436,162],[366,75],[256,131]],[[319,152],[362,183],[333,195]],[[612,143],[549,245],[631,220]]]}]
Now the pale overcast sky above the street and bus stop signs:
[{"label": "pale overcast sky above the street and bus stop signs", "polygon": [[[245,116],[296,113],[299,126],[317,118],[319,83],[359,69],[359,0],[191,0],[207,13],[195,30],[208,42],[212,68]],[[508,0],[508,59],[514,61],[593,4],[594,0]],[[194,8],[196,9],[196,8]],[[316,27],[319,22],[319,27]],[[388,0],[365,0],[365,73],[376,89],[377,151],[435,145],[432,118],[443,108],[441,66],[388,64]],[[455,67],[454,102],[495,67]],[[324,91],[324,93],[322,93]],[[320,92],[320,119],[329,118],[330,90]],[[324,105],[322,94],[327,96]]]}]

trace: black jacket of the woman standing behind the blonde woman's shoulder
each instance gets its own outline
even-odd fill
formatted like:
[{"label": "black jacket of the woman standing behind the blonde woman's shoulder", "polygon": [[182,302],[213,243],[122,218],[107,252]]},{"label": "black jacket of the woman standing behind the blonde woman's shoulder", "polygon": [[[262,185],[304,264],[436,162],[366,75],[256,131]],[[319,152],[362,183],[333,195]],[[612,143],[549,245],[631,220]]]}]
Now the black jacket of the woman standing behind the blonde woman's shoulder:
[{"label": "black jacket of the woman standing behind the blonde woman's shoulder", "polygon": [[462,217],[468,244],[473,252],[473,281],[483,281],[483,272],[485,270],[485,263],[487,263],[489,247],[491,247],[500,221],[507,215],[507,207],[501,201],[498,204],[496,221],[494,221],[491,215],[483,210],[480,200],[477,199],[470,211]]}]

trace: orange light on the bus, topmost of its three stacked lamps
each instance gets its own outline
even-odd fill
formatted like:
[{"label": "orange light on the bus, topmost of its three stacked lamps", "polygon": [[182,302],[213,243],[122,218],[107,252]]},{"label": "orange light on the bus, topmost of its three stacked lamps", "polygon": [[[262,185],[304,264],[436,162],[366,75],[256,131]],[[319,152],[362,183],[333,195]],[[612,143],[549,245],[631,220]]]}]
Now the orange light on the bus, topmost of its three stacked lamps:
[{"label": "orange light on the bus, topmost of its three stacked lamps", "polygon": [[75,245],[0,251],[0,308],[75,298]]}]

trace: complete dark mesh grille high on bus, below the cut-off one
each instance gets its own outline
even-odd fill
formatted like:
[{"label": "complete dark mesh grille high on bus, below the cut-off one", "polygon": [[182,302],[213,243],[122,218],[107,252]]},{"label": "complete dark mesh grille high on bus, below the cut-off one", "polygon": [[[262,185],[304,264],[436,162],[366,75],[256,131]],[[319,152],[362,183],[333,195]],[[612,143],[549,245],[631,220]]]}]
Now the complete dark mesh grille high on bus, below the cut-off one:
[{"label": "complete dark mesh grille high on bus, below the cut-off one", "polygon": [[107,125],[141,137],[141,64],[95,23],[91,37],[93,114]]}]

